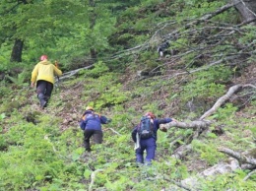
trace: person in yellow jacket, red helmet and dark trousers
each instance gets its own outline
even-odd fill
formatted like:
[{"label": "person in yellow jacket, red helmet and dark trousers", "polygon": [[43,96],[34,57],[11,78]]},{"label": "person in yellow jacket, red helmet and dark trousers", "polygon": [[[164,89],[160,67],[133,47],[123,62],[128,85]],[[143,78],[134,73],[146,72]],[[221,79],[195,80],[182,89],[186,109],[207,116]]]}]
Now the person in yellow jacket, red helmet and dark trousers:
[{"label": "person in yellow jacket, red helmet and dark trousers", "polygon": [[32,70],[32,88],[36,84],[36,94],[40,101],[40,107],[44,108],[51,96],[54,84],[54,75],[61,76],[62,72],[50,61],[47,55],[41,55]]}]

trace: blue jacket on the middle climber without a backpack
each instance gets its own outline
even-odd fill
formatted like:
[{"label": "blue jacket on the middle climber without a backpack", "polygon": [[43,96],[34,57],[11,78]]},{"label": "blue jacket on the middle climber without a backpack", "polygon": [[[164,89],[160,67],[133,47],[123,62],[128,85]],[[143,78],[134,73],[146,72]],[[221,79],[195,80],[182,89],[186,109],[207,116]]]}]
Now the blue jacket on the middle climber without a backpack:
[{"label": "blue jacket on the middle climber without a backpack", "polygon": [[80,121],[80,127],[82,130],[91,129],[101,131],[101,124],[108,122],[109,120],[105,116],[99,115],[92,110],[86,110]]}]

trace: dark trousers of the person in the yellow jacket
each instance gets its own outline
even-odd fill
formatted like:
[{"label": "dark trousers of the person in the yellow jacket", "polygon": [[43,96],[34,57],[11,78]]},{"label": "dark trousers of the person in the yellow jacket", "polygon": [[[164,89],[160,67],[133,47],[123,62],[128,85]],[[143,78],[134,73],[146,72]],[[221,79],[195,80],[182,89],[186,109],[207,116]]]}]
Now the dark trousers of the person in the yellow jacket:
[{"label": "dark trousers of the person in the yellow jacket", "polygon": [[39,80],[36,82],[36,94],[37,97],[48,100],[53,90],[53,84],[47,81]]}]

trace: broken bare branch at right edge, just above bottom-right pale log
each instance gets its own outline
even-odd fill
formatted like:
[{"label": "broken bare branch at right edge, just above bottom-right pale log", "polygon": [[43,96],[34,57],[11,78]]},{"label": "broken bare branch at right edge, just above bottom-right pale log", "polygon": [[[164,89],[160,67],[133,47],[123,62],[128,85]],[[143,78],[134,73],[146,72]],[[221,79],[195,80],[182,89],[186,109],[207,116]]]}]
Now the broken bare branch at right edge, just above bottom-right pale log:
[{"label": "broken bare branch at right edge, just above bottom-right pale log", "polygon": [[220,148],[219,149],[220,152],[234,158],[234,159],[237,159],[239,161],[240,164],[242,163],[248,163],[248,164],[252,164],[252,165],[255,165],[256,167],[256,159],[253,159],[252,157],[246,157],[242,154],[239,154],[237,152],[234,152],[230,149],[227,149],[227,148]]}]

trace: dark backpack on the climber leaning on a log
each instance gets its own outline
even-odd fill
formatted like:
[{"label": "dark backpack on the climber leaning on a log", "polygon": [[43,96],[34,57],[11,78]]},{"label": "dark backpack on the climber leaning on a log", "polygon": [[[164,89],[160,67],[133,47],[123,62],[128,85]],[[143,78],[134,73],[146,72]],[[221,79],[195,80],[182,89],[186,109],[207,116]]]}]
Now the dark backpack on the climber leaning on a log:
[{"label": "dark backpack on the climber leaning on a log", "polygon": [[152,123],[152,119],[148,116],[143,116],[137,131],[141,139],[154,137],[154,125]]}]

